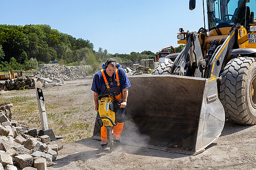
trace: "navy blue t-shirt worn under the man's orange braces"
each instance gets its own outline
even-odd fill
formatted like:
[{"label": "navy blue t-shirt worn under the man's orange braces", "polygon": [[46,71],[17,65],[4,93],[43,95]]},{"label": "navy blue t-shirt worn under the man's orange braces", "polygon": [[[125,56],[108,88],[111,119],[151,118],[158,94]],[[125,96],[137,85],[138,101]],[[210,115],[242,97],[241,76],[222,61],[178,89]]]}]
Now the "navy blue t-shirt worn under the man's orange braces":
[{"label": "navy blue t-shirt worn under the man's orange braces", "polygon": [[[104,73],[105,76],[109,82],[109,87],[116,87],[117,86],[117,82],[116,82],[116,72],[112,75],[112,82],[113,85],[110,85],[110,81],[109,81],[109,75],[106,73],[106,70],[104,69]],[[121,90],[131,87],[130,81],[127,77],[127,75],[125,74],[124,70],[122,68],[118,68],[118,77],[119,77],[119,82],[120,82],[120,86],[121,86]],[[98,92],[101,94],[106,94],[107,92],[107,86],[106,83],[104,81],[104,78],[101,74],[101,71],[96,72],[96,74],[93,77],[93,84],[92,84],[92,91],[93,92]]]}]

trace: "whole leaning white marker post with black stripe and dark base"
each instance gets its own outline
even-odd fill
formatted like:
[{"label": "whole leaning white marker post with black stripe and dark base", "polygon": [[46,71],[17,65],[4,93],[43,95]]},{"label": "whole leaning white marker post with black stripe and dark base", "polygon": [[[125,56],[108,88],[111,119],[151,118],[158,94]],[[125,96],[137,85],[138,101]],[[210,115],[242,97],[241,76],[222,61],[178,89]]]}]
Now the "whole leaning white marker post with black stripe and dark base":
[{"label": "whole leaning white marker post with black stripe and dark base", "polygon": [[46,108],[45,108],[45,102],[44,102],[45,99],[43,96],[42,84],[40,81],[34,81],[34,82],[35,82],[35,89],[36,89],[36,93],[37,93],[39,116],[40,116],[41,127],[42,127],[42,130],[39,130],[39,136],[48,135],[50,137],[51,141],[54,141],[54,140],[56,140],[54,132],[52,129],[48,128]]}]

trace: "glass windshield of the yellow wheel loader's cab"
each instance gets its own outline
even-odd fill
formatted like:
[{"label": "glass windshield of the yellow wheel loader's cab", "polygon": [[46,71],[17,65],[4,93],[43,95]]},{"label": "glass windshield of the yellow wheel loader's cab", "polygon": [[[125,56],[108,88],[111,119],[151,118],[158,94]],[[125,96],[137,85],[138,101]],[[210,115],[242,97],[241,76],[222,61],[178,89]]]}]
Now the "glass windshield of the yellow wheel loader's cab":
[{"label": "glass windshield of the yellow wheel loader's cab", "polygon": [[207,0],[209,30],[253,23],[256,0]]}]

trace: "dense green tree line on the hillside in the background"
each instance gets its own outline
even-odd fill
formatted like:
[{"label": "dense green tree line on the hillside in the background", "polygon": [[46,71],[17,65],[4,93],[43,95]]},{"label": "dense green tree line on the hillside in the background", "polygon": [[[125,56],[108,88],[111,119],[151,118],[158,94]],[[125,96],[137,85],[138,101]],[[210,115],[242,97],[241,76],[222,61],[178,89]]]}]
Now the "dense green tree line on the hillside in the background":
[{"label": "dense green tree line on the hillside in the background", "polygon": [[[175,50],[183,48],[179,46]],[[65,65],[91,65],[96,70],[110,57],[119,63],[139,62],[155,57],[155,53],[145,50],[109,54],[101,47],[94,51],[89,40],[77,39],[49,25],[0,25],[0,71],[38,69],[38,64],[52,61],[61,61]]]}]

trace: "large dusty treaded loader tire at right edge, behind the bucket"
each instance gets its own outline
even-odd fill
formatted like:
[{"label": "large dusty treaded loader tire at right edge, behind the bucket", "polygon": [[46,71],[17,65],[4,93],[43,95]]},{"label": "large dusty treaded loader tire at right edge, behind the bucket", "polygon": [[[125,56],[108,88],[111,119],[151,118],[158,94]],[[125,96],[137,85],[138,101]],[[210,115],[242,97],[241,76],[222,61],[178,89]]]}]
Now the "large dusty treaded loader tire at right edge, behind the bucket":
[{"label": "large dusty treaded loader tire at right edge, behind the bucket", "polygon": [[256,124],[256,58],[238,57],[226,64],[220,99],[227,119],[239,124]]}]

